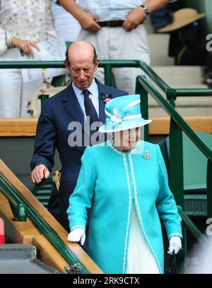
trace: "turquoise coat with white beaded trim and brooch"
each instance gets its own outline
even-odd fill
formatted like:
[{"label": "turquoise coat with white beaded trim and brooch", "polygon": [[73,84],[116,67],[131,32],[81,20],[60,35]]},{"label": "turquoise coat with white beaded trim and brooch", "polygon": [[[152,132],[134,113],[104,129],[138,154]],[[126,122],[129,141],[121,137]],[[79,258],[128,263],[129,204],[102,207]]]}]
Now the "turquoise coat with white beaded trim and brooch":
[{"label": "turquoise coat with white beaded trim and brooch", "polygon": [[160,219],[168,238],[182,237],[182,227],[160,147],[139,141],[135,149],[122,152],[109,141],[87,147],[81,161],[67,213],[71,231],[85,229],[90,208],[90,257],[105,273],[126,271],[134,202],[146,242],[163,273]]}]

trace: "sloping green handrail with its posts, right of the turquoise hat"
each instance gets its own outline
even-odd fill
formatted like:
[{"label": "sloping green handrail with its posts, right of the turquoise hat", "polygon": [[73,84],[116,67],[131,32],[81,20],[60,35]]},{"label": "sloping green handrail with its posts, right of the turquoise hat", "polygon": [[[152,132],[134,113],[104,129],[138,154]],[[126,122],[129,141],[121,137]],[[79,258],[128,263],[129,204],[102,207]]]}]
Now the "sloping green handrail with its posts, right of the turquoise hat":
[{"label": "sloping green handrail with its posts, right of the turquoise hat", "polygon": [[[186,246],[186,229],[192,232],[198,241],[206,244],[206,238],[197,229],[194,223],[187,217],[183,211],[184,207],[184,181],[183,181],[183,150],[182,150],[182,131],[187,134],[189,139],[199,148],[199,150],[207,157],[207,214],[212,216],[212,151],[208,146],[198,137],[187,122],[177,113],[174,107],[163,98],[162,95],[154,88],[146,79],[146,76],[137,76],[136,79],[136,93],[141,95],[141,106],[143,117],[148,119],[148,94],[151,95],[155,101],[170,115],[170,189],[175,195],[179,214],[184,223],[184,238],[183,238],[183,257],[184,267],[187,255]],[[145,138],[148,138],[148,125],[146,125]]]}]

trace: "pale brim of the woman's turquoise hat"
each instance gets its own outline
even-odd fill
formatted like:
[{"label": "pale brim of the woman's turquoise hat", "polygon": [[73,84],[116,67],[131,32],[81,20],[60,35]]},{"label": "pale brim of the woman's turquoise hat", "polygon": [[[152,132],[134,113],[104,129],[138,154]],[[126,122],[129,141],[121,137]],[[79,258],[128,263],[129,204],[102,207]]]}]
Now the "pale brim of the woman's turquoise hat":
[{"label": "pale brim of the woman's turquoise hat", "polygon": [[127,129],[133,129],[137,127],[142,127],[144,125],[147,125],[151,123],[152,120],[144,120],[143,118],[136,120],[136,121],[123,121],[122,123],[115,124],[114,122],[106,122],[105,125],[102,125],[99,129],[99,132],[101,133],[111,133],[111,132],[119,132]]}]

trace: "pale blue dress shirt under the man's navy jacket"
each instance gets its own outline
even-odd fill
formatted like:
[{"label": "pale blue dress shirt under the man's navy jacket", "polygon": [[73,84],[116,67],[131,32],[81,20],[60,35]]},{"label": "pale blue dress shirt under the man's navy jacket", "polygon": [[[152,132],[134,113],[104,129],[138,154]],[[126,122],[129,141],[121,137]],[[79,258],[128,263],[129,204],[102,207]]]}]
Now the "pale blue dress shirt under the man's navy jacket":
[{"label": "pale blue dress shirt under the man's navy jacket", "polygon": [[[79,105],[81,106],[81,109],[83,111],[83,114],[86,118],[86,110],[85,110],[85,106],[84,106],[84,95],[83,95],[83,91],[79,88],[77,88],[73,82],[72,82],[72,87],[73,87],[73,91],[76,94],[76,98],[78,100]],[[93,82],[91,83],[91,85],[87,88],[87,90],[90,91],[90,95],[89,98],[92,101],[96,113],[99,117],[99,89],[98,89],[98,84],[95,82],[95,79],[93,79]]]}]

